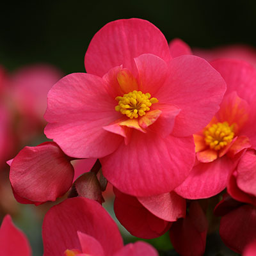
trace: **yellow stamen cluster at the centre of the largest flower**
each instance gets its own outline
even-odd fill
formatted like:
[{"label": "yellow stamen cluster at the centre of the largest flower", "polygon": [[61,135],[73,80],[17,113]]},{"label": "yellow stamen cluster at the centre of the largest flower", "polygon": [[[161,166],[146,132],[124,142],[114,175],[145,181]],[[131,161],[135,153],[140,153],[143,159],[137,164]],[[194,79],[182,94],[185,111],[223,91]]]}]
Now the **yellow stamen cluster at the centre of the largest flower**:
[{"label": "yellow stamen cluster at the centre of the largest flower", "polygon": [[123,97],[116,97],[118,105],[115,109],[131,119],[138,118],[138,116],[146,115],[146,111],[150,110],[150,106],[158,102],[156,98],[150,98],[150,93],[142,93],[141,91],[134,90],[125,93]]}]

